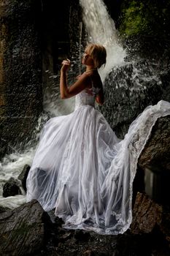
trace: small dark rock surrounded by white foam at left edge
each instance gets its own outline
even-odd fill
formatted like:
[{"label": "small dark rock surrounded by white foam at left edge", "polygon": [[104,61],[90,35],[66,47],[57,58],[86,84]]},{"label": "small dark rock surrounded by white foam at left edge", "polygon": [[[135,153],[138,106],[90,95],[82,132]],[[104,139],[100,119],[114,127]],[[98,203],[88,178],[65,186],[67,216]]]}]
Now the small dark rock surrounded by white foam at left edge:
[{"label": "small dark rock surrounded by white foam at left edge", "polygon": [[9,181],[4,184],[3,197],[10,197],[13,195],[21,195],[20,184],[14,178],[9,178]]}]

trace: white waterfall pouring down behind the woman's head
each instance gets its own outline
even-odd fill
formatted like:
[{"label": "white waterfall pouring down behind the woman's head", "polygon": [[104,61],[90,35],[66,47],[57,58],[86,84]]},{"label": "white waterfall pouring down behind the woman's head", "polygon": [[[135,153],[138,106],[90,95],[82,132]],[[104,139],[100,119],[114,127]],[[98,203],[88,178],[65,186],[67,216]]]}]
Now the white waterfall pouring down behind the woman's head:
[{"label": "white waterfall pouring down behind the woman's head", "polygon": [[104,1],[80,0],[82,20],[88,33],[88,41],[104,45],[107,49],[107,64],[100,69],[101,79],[104,80],[112,67],[124,64],[125,50],[118,42],[118,32],[115,23],[107,12]]}]

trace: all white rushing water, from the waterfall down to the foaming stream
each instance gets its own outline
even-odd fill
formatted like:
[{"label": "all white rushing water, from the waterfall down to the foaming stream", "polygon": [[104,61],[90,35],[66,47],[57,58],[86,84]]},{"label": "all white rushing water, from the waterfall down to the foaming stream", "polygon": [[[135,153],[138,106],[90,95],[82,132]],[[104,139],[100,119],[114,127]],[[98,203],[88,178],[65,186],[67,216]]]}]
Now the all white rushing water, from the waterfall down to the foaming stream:
[{"label": "all white rushing water, from the waterfall down to the foaming stream", "polygon": [[[115,69],[115,74],[117,74],[117,70],[120,70],[121,67],[127,65],[127,62],[124,61],[126,53],[120,45],[118,33],[115,29],[115,23],[112,18],[110,18],[104,2],[101,0],[80,0],[80,4],[83,10],[83,23],[85,24],[85,28],[88,33],[88,41],[101,43],[107,48],[107,65],[104,69],[101,68],[99,70],[101,79],[104,81],[111,69]],[[78,55],[81,55],[81,37],[79,46],[77,47],[77,52]],[[139,69],[137,69],[135,65],[132,65],[132,67],[133,72],[131,80],[133,80],[133,86],[131,87],[131,91],[137,89],[144,90],[141,86],[142,83],[140,80],[142,78],[142,74],[139,74]],[[39,132],[42,129],[42,125],[48,118],[65,115],[74,110],[74,97],[67,100],[60,99],[59,75],[50,74],[48,70],[46,72],[51,84],[50,90],[45,91],[44,113],[39,118],[39,122],[35,129],[35,141],[39,139]],[[80,70],[77,70],[77,75],[79,72]],[[75,73],[71,67],[68,77],[69,83],[72,82],[74,76]],[[143,76],[142,79],[150,80],[151,77],[152,75],[148,74],[147,77]],[[116,79],[116,75],[112,79]],[[119,80],[119,82],[120,83],[118,84],[117,82],[116,85],[117,89],[120,87],[125,88],[125,86],[127,86],[126,77],[124,77],[124,80]],[[18,176],[21,170],[23,170],[24,165],[31,165],[35,150],[36,145],[30,142],[26,145],[26,150],[23,151],[22,154],[15,151],[12,154],[6,155],[2,160],[0,165],[0,206],[15,208],[26,201],[26,195],[24,192],[23,195],[16,195],[14,197],[7,198],[2,197],[3,185],[11,177],[18,181]]]}]

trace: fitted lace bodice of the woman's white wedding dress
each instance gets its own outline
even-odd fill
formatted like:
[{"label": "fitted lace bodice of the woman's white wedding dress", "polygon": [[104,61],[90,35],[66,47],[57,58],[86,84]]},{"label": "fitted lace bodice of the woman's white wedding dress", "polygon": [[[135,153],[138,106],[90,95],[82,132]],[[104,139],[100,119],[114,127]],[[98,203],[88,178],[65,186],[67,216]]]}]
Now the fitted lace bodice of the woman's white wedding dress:
[{"label": "fitted lace bodice of the woman's white wedding dress", "polygon": [[98,91],[100,91],[100,89],[92,87],[92,89],[88,89],[88,90],[91,91],[91,94],[86,92],[86,89],[85,89],[81,91],[80,94],[76,95],[74,110],[77,110],[77,108],[80,108],[84,105],[90,105],[95,107],[96,95],[98,94]]}]

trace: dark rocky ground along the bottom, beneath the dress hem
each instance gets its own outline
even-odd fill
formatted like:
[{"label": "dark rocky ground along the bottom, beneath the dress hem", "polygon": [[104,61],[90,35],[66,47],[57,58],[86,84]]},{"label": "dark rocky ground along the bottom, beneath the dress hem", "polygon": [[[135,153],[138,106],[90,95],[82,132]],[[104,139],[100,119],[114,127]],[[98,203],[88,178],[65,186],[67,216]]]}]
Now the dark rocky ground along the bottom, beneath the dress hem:
[{"label": "dark rocky ground along the bottom, beneath the dress hem", "polygon": [[104,236],[64,230],[54,211],[46,213],[33,200],[0,214],[0,255],[168,256],[167,218],[161,206],[139,193],[131,229],[119,236]]}]

